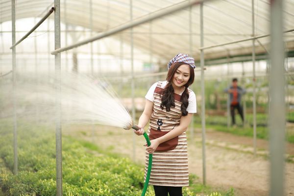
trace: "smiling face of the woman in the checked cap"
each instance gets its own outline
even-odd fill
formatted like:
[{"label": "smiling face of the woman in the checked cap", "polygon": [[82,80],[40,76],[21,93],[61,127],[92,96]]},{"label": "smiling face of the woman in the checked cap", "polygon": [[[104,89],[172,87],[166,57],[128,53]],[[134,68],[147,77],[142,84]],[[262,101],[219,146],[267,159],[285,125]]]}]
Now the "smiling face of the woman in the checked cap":
[{"label": "smiling face of the woman in the checked cap", "polygon": [[173,78],[172,78],[172,83],[176,87],[182,87],[184,86],[190,78],[190,65],[183,64],[178,69],[175,71]]}]

